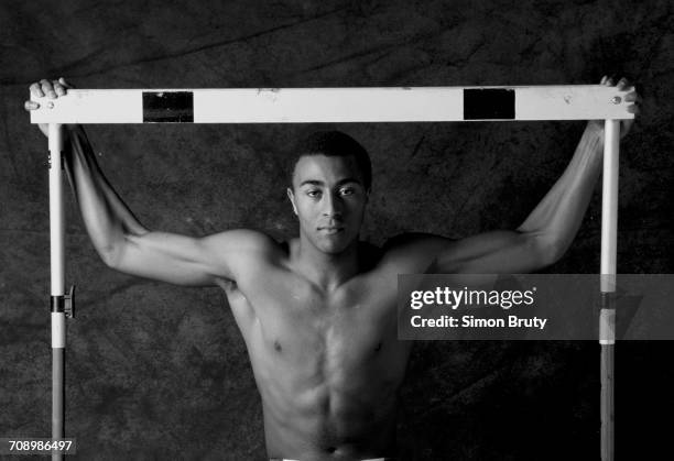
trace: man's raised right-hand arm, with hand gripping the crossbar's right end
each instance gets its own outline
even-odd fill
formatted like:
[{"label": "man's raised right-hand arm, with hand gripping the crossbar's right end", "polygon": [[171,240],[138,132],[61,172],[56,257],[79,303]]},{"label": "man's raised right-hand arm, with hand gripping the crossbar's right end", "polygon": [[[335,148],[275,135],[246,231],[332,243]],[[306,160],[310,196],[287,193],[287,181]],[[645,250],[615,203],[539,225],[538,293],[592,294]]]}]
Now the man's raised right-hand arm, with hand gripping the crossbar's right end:
[{"label": "man's raised right-hand arm, with hand gripping the crossbar's right end", "polygon": [[[601,84],[612,86],[613,81],[604,77]],[[630,86],[624,78],[618,83],[620,89]],[[629,110],[638,113],[637,92],[629,92],[626,100],[633,102]],[[621,123],[621,135],[627,134],[631,124],[632,120]],[[604,123],[590,121],[564,174],[515,230],[485,232],[456,241],[417,237],[415,246],[437,255],[427,272],[514,274],[556,262],[580,227],[601,171],[602,147]]]}]

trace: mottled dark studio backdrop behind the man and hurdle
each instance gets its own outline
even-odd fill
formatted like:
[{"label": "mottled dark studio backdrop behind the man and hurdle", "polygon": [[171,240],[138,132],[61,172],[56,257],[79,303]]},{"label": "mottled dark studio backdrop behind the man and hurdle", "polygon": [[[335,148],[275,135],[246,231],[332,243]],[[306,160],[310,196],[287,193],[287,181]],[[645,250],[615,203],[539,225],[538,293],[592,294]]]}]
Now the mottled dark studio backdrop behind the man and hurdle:
[{"label": "mottled dark studio backdrop behind the man and hurdle", "polygon": [[[30,83],[80,88],[640,84],[623,143],[619,271],[673,271],[673,18],[668,1],[19,1],[0,3],[0,436],[50,435],[46,141]],[[105,108],[101,108],[101,111]],[[363,238],[514,228],[562,173],[583,123],[354,124],[374,195]],[[307,125],[88,130],[153,228],[295,233],[283,158]],[[598,271],[595,197],[550,272]],[[261,406],[218,289],[113,273],[68,196],[67,421],[81,460],[264,458]],[[619,459],[670,448],[670,343],[617,347]],[[420,344],[403,387],[404,459],[597,459],[599,347]],[[656,422],[657,417],[665,417]],[[648,454],[650,453],[650,454]]]}]

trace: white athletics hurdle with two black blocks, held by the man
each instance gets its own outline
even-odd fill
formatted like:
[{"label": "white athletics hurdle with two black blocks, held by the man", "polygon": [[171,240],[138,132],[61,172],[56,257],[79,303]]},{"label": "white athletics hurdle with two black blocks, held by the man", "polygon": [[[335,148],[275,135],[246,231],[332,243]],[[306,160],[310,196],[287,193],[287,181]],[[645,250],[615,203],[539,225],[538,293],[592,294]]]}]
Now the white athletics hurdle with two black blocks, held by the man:
[{"label": "white athletics hurdle with two black blocks, held by the man", "polygon": [[[316,123],[605,120],[601,207],[601,294],[616,290],[620,120],[633,119],[627,90],[605,85],[396,87],[69,89],[31,111],[48,123],[52,296],[64,295],[62,124],[64,123]],[[36,102],[42,102],[31,96]],[[52,314],[53,435],[63,438],[65,326]],[[65,317],[65,316],[63,316]],[[56,327],[54,327],[56,325]],[[600,314],[601,459],[613,460],[615,307]],[[56,337],[56,339],[55,339]],[[56,352],[59,351],[59,352]],[[53,459],[61,455],[54,454]]]}]

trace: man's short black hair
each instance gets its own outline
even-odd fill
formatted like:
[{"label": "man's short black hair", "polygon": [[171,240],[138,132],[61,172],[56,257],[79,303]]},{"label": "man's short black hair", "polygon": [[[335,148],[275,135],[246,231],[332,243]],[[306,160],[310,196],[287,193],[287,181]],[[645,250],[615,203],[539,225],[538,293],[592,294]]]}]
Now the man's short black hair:
[{"label": "man's short black hair", "polygon": [[372,162],[370,161],[370,155],[358,141],[348,134],[337,130],[316,131],[301,140],[296,144],[289,163],[287,173],[291,187],[295,166],[300,158],[306,155],[325,155],[327,157],[352,156],[356,160],[358,169],[362,174],[366,190],[370,190],[372,186]]}]

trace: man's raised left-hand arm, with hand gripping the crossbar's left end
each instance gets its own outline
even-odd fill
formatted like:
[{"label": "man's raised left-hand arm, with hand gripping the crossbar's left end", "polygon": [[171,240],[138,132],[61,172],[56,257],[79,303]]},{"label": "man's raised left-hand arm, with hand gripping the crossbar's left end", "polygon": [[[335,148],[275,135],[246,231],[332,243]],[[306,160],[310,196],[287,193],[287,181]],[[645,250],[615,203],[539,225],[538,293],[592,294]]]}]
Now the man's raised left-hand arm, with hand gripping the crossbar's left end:
[{"label": "man's raised left-hand arm, with hand gripping the crossbar's left end", "polygon": [[[67,88],[63,79],[42,80],[31,92],[56,98]],[[177,285],[209,286],[236,279],[237,267],[272,249],[271,239],[249,230],[193,238],[146,229],[106,179],[84,129],[68,125],[64,132],[66,173],[91,242],[108,266]]]}]

